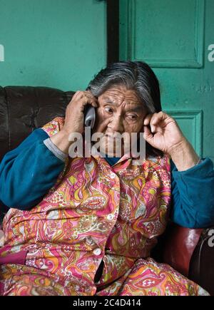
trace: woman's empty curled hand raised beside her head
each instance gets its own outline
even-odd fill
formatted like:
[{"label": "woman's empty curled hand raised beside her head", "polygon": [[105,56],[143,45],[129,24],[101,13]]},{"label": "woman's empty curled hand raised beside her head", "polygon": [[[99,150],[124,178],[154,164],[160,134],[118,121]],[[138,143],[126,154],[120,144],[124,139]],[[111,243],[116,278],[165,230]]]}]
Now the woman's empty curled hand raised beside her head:
[{"label": "woman's empty curled hand raised beside her head", "polygon": [[186,141],[176,121],[166,113],[146,115],[143,125],[145,140],[163,153],[170,155]]}]

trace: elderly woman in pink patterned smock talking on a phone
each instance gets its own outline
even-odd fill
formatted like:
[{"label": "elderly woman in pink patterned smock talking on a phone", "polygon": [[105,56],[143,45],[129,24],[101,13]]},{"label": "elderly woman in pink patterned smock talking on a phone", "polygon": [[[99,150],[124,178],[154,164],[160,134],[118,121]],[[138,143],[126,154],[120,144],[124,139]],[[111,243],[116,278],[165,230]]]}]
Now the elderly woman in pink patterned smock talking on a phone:
[{"label": "elderly woman in pink patterned smock talking on a phone", "polygon": [[[96,109],[106,157],[70,157]],[[108,153],[116,133],[143,133],[146,158]],[[125,141],[123,141],[125,143]],[[214,222],[214,172],[178,124],[161,112],[158,80],[143,62],[113,63],[77,91],[65,118],[34,130],[0,167],[4,217],[3,295],[202,295],[200,286],[151,249],[168,218],[185,227]]]}]

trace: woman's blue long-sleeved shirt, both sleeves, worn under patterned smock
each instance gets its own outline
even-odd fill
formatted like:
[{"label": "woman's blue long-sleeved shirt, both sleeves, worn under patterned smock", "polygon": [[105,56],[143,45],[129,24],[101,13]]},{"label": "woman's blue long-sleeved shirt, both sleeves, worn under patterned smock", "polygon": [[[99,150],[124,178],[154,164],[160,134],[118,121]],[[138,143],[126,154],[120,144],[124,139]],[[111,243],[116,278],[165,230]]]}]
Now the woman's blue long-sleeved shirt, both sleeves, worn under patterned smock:
[{"label": "woman's blue long-sleeved shirt, both sleeves, worn under patterned smock", "polygon": [[[18,148],[6,153],[0,164],[0,200],[8,207],[27,210],[37,205],[54,186],[64,160],[44,143],[49,135],[34,130]],[[61,151],[59,150],[59,154]],[[112,159],[108,159],[113,165]],[[183,227],[214,224],[213,162],[178,171],[171,161],[172,205],[170,219]]]}]

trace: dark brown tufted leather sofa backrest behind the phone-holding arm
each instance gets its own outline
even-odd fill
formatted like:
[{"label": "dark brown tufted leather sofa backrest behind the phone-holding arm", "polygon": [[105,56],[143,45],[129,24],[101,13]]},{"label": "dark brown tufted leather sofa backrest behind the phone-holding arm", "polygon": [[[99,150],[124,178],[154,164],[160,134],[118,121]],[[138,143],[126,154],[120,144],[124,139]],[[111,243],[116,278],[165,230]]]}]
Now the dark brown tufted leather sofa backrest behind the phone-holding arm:
[{"label": "dark brown tufted leather sofa backrest behind the phone-holding arm", "polygon": [[73,93],[46,87],[0,87],[0,161],[35,128],[65,115]]}]

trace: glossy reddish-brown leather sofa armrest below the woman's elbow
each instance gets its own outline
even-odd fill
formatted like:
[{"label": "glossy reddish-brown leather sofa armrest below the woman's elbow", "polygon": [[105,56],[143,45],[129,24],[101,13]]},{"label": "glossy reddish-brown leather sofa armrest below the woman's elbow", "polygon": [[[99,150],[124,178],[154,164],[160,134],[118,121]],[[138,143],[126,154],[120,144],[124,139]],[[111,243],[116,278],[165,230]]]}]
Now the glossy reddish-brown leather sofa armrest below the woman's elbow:
[{"label": "glossy reddish-brown leather sofa armrest below the woman's elbow", "polygon": [[169,223],[152,252],[214,296],[214,227],[189,229]]}]

